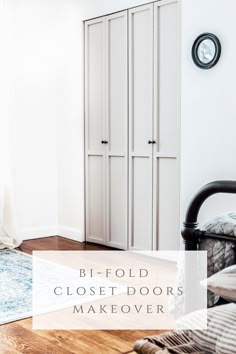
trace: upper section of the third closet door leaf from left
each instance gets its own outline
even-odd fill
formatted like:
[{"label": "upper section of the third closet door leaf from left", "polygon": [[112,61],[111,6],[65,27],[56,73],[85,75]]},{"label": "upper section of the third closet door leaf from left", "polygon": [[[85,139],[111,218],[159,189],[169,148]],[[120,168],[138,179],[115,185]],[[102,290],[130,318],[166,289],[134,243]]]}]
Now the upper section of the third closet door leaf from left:
[{"label": "upper section of the third closet door leaf from left", "polygon": [[153,5],[129,11],[131,148],[148,152],[153,111]]}]

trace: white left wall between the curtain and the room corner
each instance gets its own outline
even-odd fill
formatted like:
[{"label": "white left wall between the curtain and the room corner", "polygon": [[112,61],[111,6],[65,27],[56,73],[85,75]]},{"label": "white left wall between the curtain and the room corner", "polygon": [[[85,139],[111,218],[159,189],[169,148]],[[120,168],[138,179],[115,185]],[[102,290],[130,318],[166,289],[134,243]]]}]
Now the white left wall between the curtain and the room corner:
[{"label": "white left wall between the curtain and the room corner", "polygon": [[57,122],[64,111],[66,64],[60,43],[64,13],[57,3],[5,1],[8,114],[18,233],[23,238],[57,233]]}]

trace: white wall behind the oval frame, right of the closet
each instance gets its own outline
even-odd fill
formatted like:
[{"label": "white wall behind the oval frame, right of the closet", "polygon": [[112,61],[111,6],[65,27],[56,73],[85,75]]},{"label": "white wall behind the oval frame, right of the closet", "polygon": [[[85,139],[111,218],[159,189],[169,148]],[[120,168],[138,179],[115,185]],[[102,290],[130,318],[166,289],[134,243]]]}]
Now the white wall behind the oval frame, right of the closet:
[{"label": "white wall behind the oval frame, right of the closet", "polygon": [[[236,180],[235,0],[182,0],[181,210],[199,187],[217,179]],[[195,38],[216,34],[219,63],[197,68],[191,58]],[[200,220],[236,210],[236,196],[217,195],[203,206]]]}]

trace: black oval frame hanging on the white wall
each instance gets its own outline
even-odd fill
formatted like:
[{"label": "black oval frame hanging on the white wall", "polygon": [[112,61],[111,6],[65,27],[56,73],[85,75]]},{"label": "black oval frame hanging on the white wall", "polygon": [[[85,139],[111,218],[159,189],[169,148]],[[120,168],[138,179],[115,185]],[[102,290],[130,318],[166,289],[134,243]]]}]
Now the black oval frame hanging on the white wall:
[{"label": "black oval frame hanging on the white wall", "polygon": [[[209,62],[209,63],[203,63],[199,57],[198,57],[198,48],[199,45],[202,43],[202,41],[204,41],[205,39],[209,39],[212,42],[214,42],[215,45],[215,55],[214,58]],[[212,33],[203,33],[201,34],[199,37],[196,38],[196,40],[193,43],[193,47],[192,47],[192,58],[194,63],[201,69],[210,69],[213,66],[215,66],[218,62],[218,60],[220,59],[220,55],[221,55],[221,44],[219,39]]]}]

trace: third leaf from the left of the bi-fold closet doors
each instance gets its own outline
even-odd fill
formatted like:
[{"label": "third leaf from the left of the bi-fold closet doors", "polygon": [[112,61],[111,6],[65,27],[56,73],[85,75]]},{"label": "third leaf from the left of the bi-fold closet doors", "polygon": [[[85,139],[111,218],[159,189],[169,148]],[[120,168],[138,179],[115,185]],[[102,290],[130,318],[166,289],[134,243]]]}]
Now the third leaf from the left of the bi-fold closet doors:
[{"label": "third leaf from the left of the bi-fold closet doors", "polygon": [[153,4],[129,10],[129,247],[152,249]]}]

